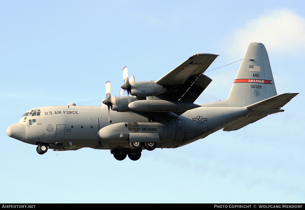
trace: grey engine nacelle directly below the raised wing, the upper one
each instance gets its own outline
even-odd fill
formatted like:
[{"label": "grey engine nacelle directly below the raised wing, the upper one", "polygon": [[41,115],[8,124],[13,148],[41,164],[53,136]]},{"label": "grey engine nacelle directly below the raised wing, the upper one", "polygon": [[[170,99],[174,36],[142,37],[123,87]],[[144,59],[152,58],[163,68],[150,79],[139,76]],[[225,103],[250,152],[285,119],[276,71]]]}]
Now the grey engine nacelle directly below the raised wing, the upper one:
[{"label": "grey engine nacelle directly below the raised wing, the upper one", "polygon": [[166,88],[158,85],[155,81],[134,82],[131,86],[131,95],[138,97],[155,96],[166,92]]}]

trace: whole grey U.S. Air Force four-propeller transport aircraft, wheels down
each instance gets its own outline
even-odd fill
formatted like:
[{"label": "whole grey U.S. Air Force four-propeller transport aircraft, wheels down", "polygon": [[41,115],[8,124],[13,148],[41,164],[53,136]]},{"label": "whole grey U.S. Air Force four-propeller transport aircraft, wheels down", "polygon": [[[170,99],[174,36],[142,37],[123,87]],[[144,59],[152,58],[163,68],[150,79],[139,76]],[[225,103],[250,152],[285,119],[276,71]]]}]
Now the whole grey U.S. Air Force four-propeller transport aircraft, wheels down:
[{"label": "whole grey U.S. Air Force four-propeller transport aircraft, wheels down", "polygon": [[[142,150],[176,148],[203,139],[220,129],[234,131],[281,109],[298,93],[277,95],[267,51],[250,43],[229,96],[224,101],[194,104],[212,79],[203,73],[218,55],[199,53],[156,81],[128,79],[127,96],[111,97],[106,83],[107,106],[37,107],[28,110],[7,135],[48,149],[83,147],[110,150],[117,160],[138,160]],[[123,90],[123,91],[124,91]]]}]

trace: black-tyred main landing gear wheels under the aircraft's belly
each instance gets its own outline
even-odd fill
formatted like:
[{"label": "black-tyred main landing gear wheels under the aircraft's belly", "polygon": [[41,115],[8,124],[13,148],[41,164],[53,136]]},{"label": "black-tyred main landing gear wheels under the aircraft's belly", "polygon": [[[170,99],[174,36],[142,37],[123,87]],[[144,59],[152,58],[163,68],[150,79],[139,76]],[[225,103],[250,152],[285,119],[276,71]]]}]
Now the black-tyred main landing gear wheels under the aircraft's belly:
[{"label": "black-tyred main landing gear wheels under the aircraft's belly", "polygon": [[156,142],[129,142],[130,149],[114,149],[110,150],[110,153],[113,154],[113,157],[118,161],[124,160],[127,155],[129,159],[133,161],[137,161],[141,157],[142,146],[148,151],[152,151],[156,149],[157,143]]}]

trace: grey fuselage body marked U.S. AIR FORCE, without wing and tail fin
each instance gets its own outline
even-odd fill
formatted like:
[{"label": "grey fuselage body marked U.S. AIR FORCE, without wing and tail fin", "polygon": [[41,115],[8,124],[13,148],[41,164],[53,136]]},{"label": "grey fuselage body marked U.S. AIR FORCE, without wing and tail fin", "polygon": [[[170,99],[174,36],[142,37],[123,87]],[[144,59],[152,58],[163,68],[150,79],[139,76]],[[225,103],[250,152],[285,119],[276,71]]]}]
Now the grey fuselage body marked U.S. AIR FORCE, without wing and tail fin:
[{"label": "grey fuselage body marked U.S. AIR FORCE, without wing and tail fin", "polygon": [[[40,115],[27,114],[32,116],[20,119],[17,124],[23,124],[25,133],[24,139],[22,133],[17,139],[34,145],[48,143],[51,149],[59,150],[125,148],[128,134],[143,136],[145,142],[156,133],[158,148],[181,147],[245,118],[250,112],[245,107],[199,107],[178,116],[172,112],[116,112],[107,107],[71,105],[33,110],[40,110]],[[27,113],[34,113],[33,110]],[[124,132],[127,135],[122,137]]]}]

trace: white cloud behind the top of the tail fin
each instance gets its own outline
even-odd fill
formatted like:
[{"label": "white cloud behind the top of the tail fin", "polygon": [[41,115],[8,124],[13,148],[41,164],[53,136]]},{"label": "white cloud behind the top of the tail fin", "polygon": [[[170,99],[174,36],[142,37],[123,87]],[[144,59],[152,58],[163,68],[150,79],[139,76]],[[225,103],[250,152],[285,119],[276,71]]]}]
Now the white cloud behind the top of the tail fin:
[{"label": "white cloud behind the top of the tail fin", "polygon": [[305,18],[289,9],[268,11],[236,28],[224,39],[229,54],[243,54],[250,42],[267,45],[268,52],[298,53],[305,48]]}]

